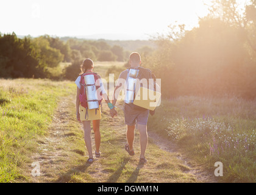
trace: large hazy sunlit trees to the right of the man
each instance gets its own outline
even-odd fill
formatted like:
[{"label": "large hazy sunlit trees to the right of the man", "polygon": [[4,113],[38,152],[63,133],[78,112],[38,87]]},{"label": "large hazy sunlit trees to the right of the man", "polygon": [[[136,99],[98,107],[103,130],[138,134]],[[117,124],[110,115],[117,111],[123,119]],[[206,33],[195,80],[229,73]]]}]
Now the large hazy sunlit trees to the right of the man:
[{"label": "large hazy sunlit trees to the right of the man", "polygon": [[162,79],[162,94],[256,98],[256,1],[212,1],[199,26],[171,24],[142,62]]}]

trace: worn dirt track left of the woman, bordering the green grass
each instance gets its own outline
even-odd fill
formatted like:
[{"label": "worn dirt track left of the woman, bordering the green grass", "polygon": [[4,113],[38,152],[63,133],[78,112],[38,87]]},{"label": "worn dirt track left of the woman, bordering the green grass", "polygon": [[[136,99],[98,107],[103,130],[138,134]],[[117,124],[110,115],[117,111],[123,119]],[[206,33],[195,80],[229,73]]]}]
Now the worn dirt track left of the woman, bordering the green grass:
[{"label": "worn dirt track left of the woman, bordering the green grass", "polygon": [[[68,137],[69,130],[66,128],[68,121],[68,98],[63,98],[60,101],[57,110],[52,118],[52,124],[48,129],[46,137],[42,140],[38,140],[38,151],[32,156],[33,163],[39,165],[38,171],[40,173],[37,177],[30,177],[30,182],[51,182],[51,179],[55,177],[56,171],[59,171],[60,164],[65,160],[68,155],[65,154],[63,144],[65,144],[65,137]],[[31,167],[31,174],[35,172]],[[32,175],[33,176],[33,175]]]}]

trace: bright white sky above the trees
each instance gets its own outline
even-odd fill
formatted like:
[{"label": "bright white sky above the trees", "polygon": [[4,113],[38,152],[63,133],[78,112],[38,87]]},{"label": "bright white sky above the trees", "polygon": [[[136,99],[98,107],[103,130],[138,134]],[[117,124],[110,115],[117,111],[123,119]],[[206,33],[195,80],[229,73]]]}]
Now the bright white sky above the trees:
[{"label": "bright white sky above the trees", "polygon": [[207,0],[9,0],[1,2],[0,32],[32,37],[123,34],[142,39],[168,31],[169,24],[176,21],[192,29],[198,16],[208,13],[204,2]]}]

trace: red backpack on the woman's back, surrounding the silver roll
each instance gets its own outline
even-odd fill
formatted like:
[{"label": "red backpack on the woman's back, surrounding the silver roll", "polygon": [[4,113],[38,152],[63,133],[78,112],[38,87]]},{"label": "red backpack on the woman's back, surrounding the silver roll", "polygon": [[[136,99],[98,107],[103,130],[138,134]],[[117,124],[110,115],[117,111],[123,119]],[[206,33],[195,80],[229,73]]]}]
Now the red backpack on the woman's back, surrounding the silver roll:
[{"label": "red backpack on the woman's back, surrounding the silver roll", "polygon": [[[88,108],[88,104],[87,104],[88,101],[87,101],[87,95],[86,95],[86,90],[85,90],[85,87],[87,85],[85,84],[84,76],[89,75],[89,74],[93,74],[95,83],[96,83],[96,80],[99,79],[98,74],[93,73],[93,72],[88,72],[88,73],[84,73],[84,74],[81,75],[79,99],[80,99],[80,103],[81,103],[82,107],[85,107],[85,108]],[[96,90],[97,90],[97,95],[98,95],[98,102],[99,102],[99,105],[101,105],[102,91],[99,93],[98,88],[100,88],[100,86],[96,86]]]}]

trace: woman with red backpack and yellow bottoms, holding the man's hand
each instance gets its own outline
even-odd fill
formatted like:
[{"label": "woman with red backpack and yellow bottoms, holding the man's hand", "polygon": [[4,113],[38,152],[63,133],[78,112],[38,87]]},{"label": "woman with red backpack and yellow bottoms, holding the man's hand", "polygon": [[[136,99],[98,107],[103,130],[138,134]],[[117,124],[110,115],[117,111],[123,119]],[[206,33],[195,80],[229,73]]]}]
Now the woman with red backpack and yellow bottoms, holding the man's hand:
[{"label": "woman with red backpack and yellow bottoms, holding the man's hand", "polygon": [[87,163],[93,163],[93,152],[91,146],[91,121],[93,121],[93,131],[95,140],[95,156],[99,158],[101,153],[99,147],[101,144],[101,133],[99,125],[101,121],[101,101],[102,98],[107,102],[110,108],[110,115],[117,116],[117,112],[112,103],[108,99],[108,95],[104,90],[101,76],[93,73],[93,61],[85,59],[80,66],[81,74],[77,77],[75,83],[77,85],[76,94],[76,117],[77,121],[84,125],[84,140],[87,147],[89,158]]}]

